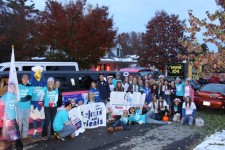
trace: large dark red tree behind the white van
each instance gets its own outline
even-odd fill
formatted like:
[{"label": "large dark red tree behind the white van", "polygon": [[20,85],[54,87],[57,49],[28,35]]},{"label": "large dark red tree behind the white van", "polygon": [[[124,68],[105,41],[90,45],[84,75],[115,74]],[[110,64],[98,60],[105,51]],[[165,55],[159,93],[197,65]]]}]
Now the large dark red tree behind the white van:
[{"label": "large dark red tree behind the white van", "polygon": [[85,6],[85,0],[65,5],[46,2],[39,22],[42,39],[54,56],[49,60],[76,61],[80,68],[88,69],[113,45],[116,31],[108,8]]}]

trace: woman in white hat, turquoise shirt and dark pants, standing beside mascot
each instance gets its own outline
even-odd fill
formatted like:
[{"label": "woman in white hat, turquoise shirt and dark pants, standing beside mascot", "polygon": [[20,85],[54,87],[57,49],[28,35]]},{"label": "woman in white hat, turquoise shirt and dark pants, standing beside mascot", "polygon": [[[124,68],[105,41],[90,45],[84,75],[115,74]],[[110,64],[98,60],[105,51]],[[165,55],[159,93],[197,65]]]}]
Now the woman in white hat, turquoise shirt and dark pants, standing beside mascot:
[{"label": "woman in white hat, turquoise shirt and dark pants, standing beside mascot", "polygon": [[54,86],[54,78],[49,77],[47,80],[47,87],[43,88],[45,123],[42,130],[42,139],[48,139],[48,129],[51,122],[50,134],[54,135],[53,121],[57,112],[58,89]]}]

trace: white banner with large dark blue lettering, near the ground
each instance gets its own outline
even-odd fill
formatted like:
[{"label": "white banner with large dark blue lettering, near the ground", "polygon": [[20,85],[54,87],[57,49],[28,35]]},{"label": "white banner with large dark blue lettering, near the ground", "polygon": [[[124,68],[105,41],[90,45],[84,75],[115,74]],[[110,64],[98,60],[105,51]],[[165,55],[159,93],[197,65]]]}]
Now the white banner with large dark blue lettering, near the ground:
[{"label": "white banner with large dark blue lettering, near the ground", "polygon": [[80,111],[86,129],[106,126],[106,107],[104,103],[81,105]]}]

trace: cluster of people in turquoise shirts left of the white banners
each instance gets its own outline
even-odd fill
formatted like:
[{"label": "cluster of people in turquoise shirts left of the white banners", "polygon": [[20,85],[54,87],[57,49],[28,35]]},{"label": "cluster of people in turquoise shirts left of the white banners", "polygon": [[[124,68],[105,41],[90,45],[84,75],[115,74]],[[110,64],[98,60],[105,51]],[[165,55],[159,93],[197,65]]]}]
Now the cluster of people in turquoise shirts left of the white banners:
[{"label": "cluster of people in turquoise shirts left of the white banners", "polygon": [[74,104],[67,102],[62,109],[62,93],[59,87],[60,81],[55,82],[53,77],[47,79],[46,86],[31,86],[27,74],[22,76],[18,86],[13,82],[8,83],[8,91],[0,98],[5,106],[2,134],[4,140],[16,141],[16,149],[22,149],[23,142],[31,141],[28,138],[30,118],[33,121],[33,138],[37,136],[38,120],[41,123],[43,140],[55,136],[63,139],[68,135],[74,138],[75,127],[68,118],[68,111]]}]

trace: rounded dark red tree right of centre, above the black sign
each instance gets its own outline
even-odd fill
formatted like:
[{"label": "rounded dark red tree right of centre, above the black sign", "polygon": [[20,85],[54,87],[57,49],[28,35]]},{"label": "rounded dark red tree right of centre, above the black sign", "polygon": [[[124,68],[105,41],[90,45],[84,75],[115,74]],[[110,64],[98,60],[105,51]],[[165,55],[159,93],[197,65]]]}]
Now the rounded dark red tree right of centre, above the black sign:
[{"label": "rounded dark red tree right of centre, above the black sign", "polygon": [[184,23],[178,15],[157,11],[142,35],[142,49],[137,53],[139,64],[164,68],[170,62],[178,62],[177,55],[187,53],[179,42],[184,39]]}]

